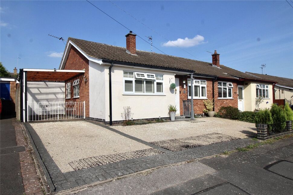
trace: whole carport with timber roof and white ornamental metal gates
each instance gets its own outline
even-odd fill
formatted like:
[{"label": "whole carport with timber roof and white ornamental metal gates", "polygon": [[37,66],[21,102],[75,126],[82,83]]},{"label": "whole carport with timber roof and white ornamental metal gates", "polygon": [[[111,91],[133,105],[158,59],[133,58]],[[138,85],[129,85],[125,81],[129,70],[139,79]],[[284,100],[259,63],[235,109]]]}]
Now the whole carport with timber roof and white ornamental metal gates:
[{"label": "whole carport with timber roof and white ornamental metal gates", "polygon": [[[59,101],[50,102],[48,100],[29,102],[28,97],[34,93],[44,93],[40,89],[41,84],[44,86],[46,94],[56,97],[54,92],[47,90],[50,86],[60,89],[64,88],[65,81],[78,75],[84,74],[85,70],[56,70],[56,69],[20,69],[20,114],[21,121],[29,122],[35,120],[62,120],[62,119],[76,119],[85,117],[85,102],[65,101],[65,90],[60,90],[59,94],[63,95]],[[28,83],[34,82],[36,92],[28,91]],[[38,87],[38,83],[40,84]],[[62,87],[63,86],[63,87]],[[64,93],[63,93],[64,92]],[[63,93],[63,94],[62,94]]]}]

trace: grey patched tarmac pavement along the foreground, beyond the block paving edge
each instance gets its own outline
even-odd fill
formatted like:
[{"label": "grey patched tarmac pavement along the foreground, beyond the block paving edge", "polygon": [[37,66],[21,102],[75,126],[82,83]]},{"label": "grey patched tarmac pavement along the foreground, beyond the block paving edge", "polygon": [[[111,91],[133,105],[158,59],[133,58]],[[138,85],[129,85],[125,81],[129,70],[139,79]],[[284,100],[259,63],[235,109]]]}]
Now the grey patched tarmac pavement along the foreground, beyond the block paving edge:
[{"label": "grey patched tarmac pavement along the foreground, beyond the block paving edge", "polygon": [[292,194],[293,137],[75,191],[88,194]]}]

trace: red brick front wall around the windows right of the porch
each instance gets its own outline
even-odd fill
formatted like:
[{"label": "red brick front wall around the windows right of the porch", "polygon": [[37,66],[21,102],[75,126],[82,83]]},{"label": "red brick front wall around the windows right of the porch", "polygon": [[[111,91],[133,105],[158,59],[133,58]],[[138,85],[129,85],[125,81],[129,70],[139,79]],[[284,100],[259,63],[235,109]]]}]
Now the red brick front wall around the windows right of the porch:
[{"label": "red brick front wall around the windows right of the porch", "polygon": [[[188,91],[187,91],[187,79],[190,78],[190,76],[176,76],[176,78],[179,78],[179,97],[180,97],[180,115],[183,115],[183,100],[189,100],[188,98]],[[213,98],[213,80],[211,78],[195,78],[200,80],[206,80],[207,81],[207,98],[212,99]],[[183,86],[183,80],[185,80],[185,89]],[[225,80],[221,80],[225,82]],[[238,107],[238,94],[237,94],[237,83],[235,81],[229,80],[227,82],[233,83],[233,89],[232,89],[232,97],[234,99],[217,99],[218,98],[218,84],[217,81],[214,83],[214,98],[215,98],[215,111],[217,112],[220,107],[222,106],[233,106]],[[243,83],[240,83],[240,85],[243,85]],[[184,93],[185,91],[185,93]],[[236,92],[236,93],[235,93]],[[203,99],[194,99],[193,100],[193,110],[195,114],[202,114],[203,110],[205,109]]]}]

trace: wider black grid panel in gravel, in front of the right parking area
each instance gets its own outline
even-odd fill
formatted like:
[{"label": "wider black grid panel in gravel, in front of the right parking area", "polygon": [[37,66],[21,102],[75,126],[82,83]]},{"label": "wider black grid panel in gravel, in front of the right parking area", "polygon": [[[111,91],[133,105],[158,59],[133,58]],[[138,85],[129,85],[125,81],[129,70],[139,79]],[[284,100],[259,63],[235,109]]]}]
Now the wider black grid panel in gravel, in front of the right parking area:
[{"label": "wider black grid panel in gravel, in front of the right parking area", "polygon": [[154,145],[171,150],[172,152],[195,148],[203,145],[209,145],[219,142],[227,142],[234,139],[240,139],[233,136],[227,136],[220,133],[209,133],[205,135],[192,136],[182,139],[168,139],[163,141],[150,142]]}]

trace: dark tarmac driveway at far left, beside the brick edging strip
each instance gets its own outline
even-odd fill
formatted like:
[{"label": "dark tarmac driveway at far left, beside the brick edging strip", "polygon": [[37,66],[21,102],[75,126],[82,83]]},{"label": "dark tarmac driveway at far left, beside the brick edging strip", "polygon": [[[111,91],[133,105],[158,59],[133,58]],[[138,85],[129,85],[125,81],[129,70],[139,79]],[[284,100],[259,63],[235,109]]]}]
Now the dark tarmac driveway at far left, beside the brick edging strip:
[{"label": "dark tarmac driveway at far left, beside the brick edging strip", "polygon": [[17,146],[12,120],[14,118],[1,119],[0,122],[0,186],[3,195],[24,193],[18,154],[24,151],[24,147]]}]

